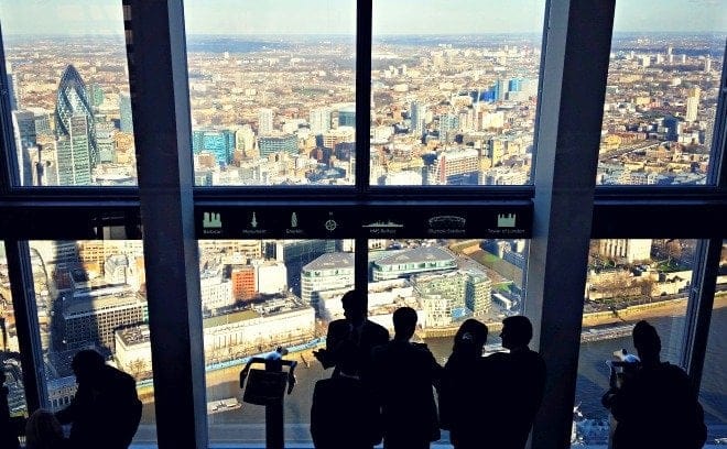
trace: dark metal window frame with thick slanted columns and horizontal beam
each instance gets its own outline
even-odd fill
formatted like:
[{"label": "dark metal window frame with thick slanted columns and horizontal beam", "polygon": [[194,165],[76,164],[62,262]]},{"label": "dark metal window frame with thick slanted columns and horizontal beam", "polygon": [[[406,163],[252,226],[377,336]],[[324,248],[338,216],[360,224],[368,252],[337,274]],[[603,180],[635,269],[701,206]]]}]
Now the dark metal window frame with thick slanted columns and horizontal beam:
[{"label": "dark metal window frame with thick slanted columns and horizontal beam", "polygon": [[[156,278],[156,284],[149,292],[149,300],[150,316],[154,317],[150,325],[154,351],[154,390],[159,395],[156,405],[158,445],[162,448],[192,446],[205,448],[209,442],[205,393],[204,388],[199,388],[199,385],[204,385],[204,350],[200,350],[198,344],[202,341],[200,310],[198,307],[193,307],[194,297],[198,296],[199,288],[195,210],[215,206],[253,205],[264,207],[270,204],[299,207],[301,201],[311,197],[326,204],[359,207],[361,210],[376,210],[380,204],[391,201],[403,201],[411,207],[417,207],[419,204],[427,200],[435,200],[444,206],[473,199],[489,201],[492,205],[503,205],[512,200],[532,202],[533,241],[530,244],[531,258],[528,264],[525,315],[533,319],[536,332],[533,343],[543,351],[546,361],[565,361],[563,371],[566,381],[563,386],[555,386],[555,390],[549,390],[546,393],[547,413],[539,415],[533,430],[534,448],[552,447],[556,441],[564,442],[571,430],[579,348],[576,336],[580,331],[579,320],[583,313],[583,304],[578,307],[577,287],[580,283],[585,284],[585,265],[583,276],[568,273],[565,271],[567,263],[563,259],[564,254],[569,254],[569,258],[579,261],[587,251],[589,239],[617,236],[633,238],[666,234],[669,237],[708,239],[708,243],[699,245],[697,254],[695,254],[695,261],[704,262],[701,262],[702,265],[695,269],[696,277],[688,303],[684,342],[683,363],[688,369],[693,382],[698,385],[716,278],[715,258],[718,262],[715,251],[717,248],[721,248],[723,239],[727,238],[725,230],[718,226],[720,217],[727,215],[727,157],[725,156],[727,64],[723,64],[721,92],[713,141],[714,163],[710,167],[710,178],[715,180],[715,185],[664,188],[595,186],[595,177],[588,178],[592,172],[573,169],[582,165],[583,161],[579,163],[566,162],[564,165],[562,160],[567,156],[567,147],[562,139],[565,139],[564,133],[568,130],[568,121],[576,123],[578,120],[586,120],[578,117],[577,110],[584,106],[593,108],[594,101],[603,92],[593,92],[592,96],[571,96],[567,100],[564,100],[562,96],[574,88],[575,79],[568,70],[579,64],[586,66],[592,63],[593,58],[601,58],[603,63],[603,58],[608,54],[615,0],[580,2],[546,0],[544,33],[547,32],[547,34],[543,35],[539,78],[533,184],[496,188],[486,186],[476,188],[411,188],[403,186],[378,188],[369,185],[370,83],[368,80],[370,79],[371,61],[370,57],[362,57],[370,55],[371,52],[372,0],[357,0],[356,4],[356,145],[357,154],[364,155],[364,157],[357,157],[354,186],[335,188],[192,186],[189,180],[192,175],[192,129],[182,0],[167,2],[123,0],[132,90],[152,91],[150,88],[153,86],[166,87],[166,89],[162,89],[165,91],[158,92],[154,98],[132,94],[137,154],[140,156],[152,154],[156,147],[152,144],[152,136],[160,131],[151,130],[150,125],[144,123],[147,118],[153,117],[152,113],[159,117],[160,110],[166,112],[161,114],[165,120],[162,128],[169,138],[165,144],[174,150],[171,155],[155,154],[154,157],[158,158],[148,156],[138,158],[138,164],[140,164],[138,166],[138,187],[37,188],[14,186],[12,183],[13,176],[15,176],[13,173],[17,173],[17,169],[13,172],[14,157],[8,157],[9,151],[13,152],[11,154],[15,154],[9,102],[7,95],[0,96],[0,134],[2,134],[0,143],[6,150],[0,157],[0,213],[3,217],[11,217],[0,219],[0,232],[9,255],[17,319],[23,324],[23,327],[19,327],[19,341],[23,353],[22,366],[28,372],[25,388],[31,408],[44,406],[44,398],[47,397],[47,394],[44,392],[45,384],[42,381],[42,374],[32,368],[42,366],[42,363],[39,364],[42,354],[37,315],[34,308],[32,273],[26,255],[29,252],[24,250],[28,243],[24,240],[102,238],[104,228],[109,226],[124,227],[127,238],[132,239],[139,238],[141,228],[144,229],[147,237],[151,237],[144,240],[148,273],[150,277],[153,274],[153,277]],[[601,20],[589,22],[589,30],[577,26],[578,19],[592,15],[599,17]],[[145,43],[154,42],[156,45],[135,46],[134,39],[139,40],[140,35],[143,35]],[[596,48],[595,56],[593,54],[587,56],[577,47],[572,47],[577,42],[584,42],[585,35],[596,36],[595,41],[589,41],[590,46]],[[1,44],[0,32],[0,63],[4,62]],[[159,59],[156,59],[159,54],[155,54],[155,51],[161,52],[164,59],[163,65],[159,64]],[[153,77],[149,74],[144,76],[144,70],[151,70]],[[606,72],[607,68],[587,76],[586,81],[596,87],[600,86],[605,92]],[[7,79],[3,75],[4,64],[0,64],[0,86]],[[598,78],[601,75],[603,81]],[[557,113],[547,119],[541,114],[543,110],[556,110]],[[588,119],[593,120],[593,116]],[[588,130],[593,133],[593,124],[589,127]],[[579,136],[577,141],[594,150],[594,135],[586,134]],[[594,161],[597,163],[598,149],[596,147],[594,151],[595,154],[592,151],[586,156],[593,173],[596,168]],[[159,179],[150,175],[150,173],[154,173],[154,167],[159,166],[154,165],[159,161],[166,161],[175,167],[173,173],[164,179],[169,183],[167,186],[171,186],[169,191],[162,191],[163,183],[160,184]],[[568,166],[569,172],[566,169]],[[583,190],[563,195],[565,186],[583,188]],[[571,201],[582,206],[576,208],[575,213],[566,223],[565,220],[558,220],[558,217],[572,210]],[[77,221],[70,220],[73,226],[58,230],[56,223],[48,217],[57,217],[59,213],[64,218],[78,216]],[[632,213],[637,213],[637,222],[629,222],[626,219],[633,219]],[[675,222],[674,213],[698,217],[698,220],[706,226],[695,228],[691,223]],[[572,221],[576,221],[576,223],[574,225]],[[31,222],[41,222],[41,225],[37,228],[21,227],[22,223]],[[664,222],[669,222],[669,226],[661,226]],[[638,236],[633,236],[634,233]],[[155,236],[165,236],[166,240],[154,238]],[[350,238],[355,239],[357,248],[367,248],[368,236],[359,232]],[[167,263],[164,263],[165,260]],[[169,263],[170,260],[173,262]],[[568,259],[568,262],[572,260]],[[365,270],[367,264],[368,253],[357,251],[355,265],[358,288],[365,288],[368,282]],[[166,275],[167,273],[174,274],[174,276]],[[568,273],[573,276],[568,283],[565,299],[565,304],[572,307],[566,310],[565,318],[562,307],[564,303],[554,299],[561,294],[555,291],[553,285],[555,284],[553,278],[558,273]],[[182,274],[181,277],[178,277],[180,274]],[[31,276],[30,283],[28,276]],[[170,310],[174,310],[174,313],[170,314]],[[162,316],[164,317],[162,318]],[[152,318],[150,317],[150,319]],[[563,322],[567,324],[565,329],[563,329]],[[184,331],[175,332],[174,336],[170,335],[169,328],[180,324]],[[182,336],[180,337],[180,335]],[[568,343],[563,344],[563,341]],[[161,350],[162,347],[165,348],[164,351]],[[173,351],[170,351],[169,348],[172,348]],[[182,371],[189,374],[189,381],[183,384],[174,381],[180,366],[178,360],[175,359],[178,354],[183,354],[184,359]],[[173,372],[171,366],[175,366]],[[199,392],[200,390],[202,392]],[[182,421],[180,414],[183,416]],[[205,418],[202,418],[203,416]],[[183,424],[181,425],[181,423]]]}]

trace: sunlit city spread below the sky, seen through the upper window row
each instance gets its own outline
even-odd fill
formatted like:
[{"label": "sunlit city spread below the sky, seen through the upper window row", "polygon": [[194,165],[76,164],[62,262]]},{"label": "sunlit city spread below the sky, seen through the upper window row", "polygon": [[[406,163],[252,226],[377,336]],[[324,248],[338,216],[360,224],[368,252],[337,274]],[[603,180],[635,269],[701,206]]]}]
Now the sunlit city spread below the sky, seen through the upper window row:
[{"label": "sunlit city spread below the sky, seen through the upper window row", "polygon": [[[369,183],[530,184],[540,40],[375,36]],[[135,185],[123,41],[6,47],[19,184]],[[350,36],[192,35],[187,56],[196,185],[355,184]],[[710,34],[617,34],[597,184],[707,183],[721,65]]]}]

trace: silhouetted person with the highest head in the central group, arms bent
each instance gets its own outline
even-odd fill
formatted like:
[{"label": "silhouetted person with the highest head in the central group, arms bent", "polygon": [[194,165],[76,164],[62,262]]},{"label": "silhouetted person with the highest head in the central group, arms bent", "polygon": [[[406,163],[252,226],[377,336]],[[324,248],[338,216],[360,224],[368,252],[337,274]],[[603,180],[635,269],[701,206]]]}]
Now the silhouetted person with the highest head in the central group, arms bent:
[{"label": "silhouetted person with the highest head in the central group, arms bent", "polygon": [[[324,369],[334,368],[333,375],[339,374],[338,361],[343,352],[354,351],[354,369],[364,380],[371,360],[371,349],[389,341],[389,331],[366,318],[366,302],[356,292],[346,292],[340,299],[344,306],[343,319],[336,319],[328,325],[326,348],[314,351],[313,354]],[[348,344],[352,342],[354,344]],[[344,343],[346,343],[344,346]],[[345,349],[344,349],[345,348]]]}]

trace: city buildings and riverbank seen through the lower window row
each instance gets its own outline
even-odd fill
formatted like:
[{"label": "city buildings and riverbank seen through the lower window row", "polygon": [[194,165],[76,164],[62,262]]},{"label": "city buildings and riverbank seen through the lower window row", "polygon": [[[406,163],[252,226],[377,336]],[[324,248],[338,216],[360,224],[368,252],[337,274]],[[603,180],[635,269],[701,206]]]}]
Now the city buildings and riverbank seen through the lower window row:
[{"label": "city buildings and riverbank seen through the lower window row", "polygon": [[[627,337],[630,326],[621,325],[639,314],[683,316],[694,245],[692,240],[671,239],[594,241],[584,292],[586,353],[590,341]],[[153,405],[142,242],[31,241],[30,248],[52,408],[69,403],[75,393],[70,359],[89,347],[132,374],[144,402]],[[354,251],[348,240],[199,241],[207,388],[210,404],[217,404],[208,412],[215,423],[229,424],[225,414],[246,421],[239,415],[239,387],[234,380],[250,357],[282,346],[310,369],[302,379],[324,375],[310,350],[324,343],[327,324],[343,317],[340,297],[355,282]],[[369,240],[368,254],[369,319],[392,331],[393,310],[413,307],[419,314],[416,338],[432,346],[441,363],[448,354],[446,341],[466,318],[490,327],[488,351],[502,350],[495,337],[499,322],[522,310],[527,240]],[[0,258],[0,282],[2,343],[17,351],[4,258]],[[717,287],[715,307],[724,307],[727,271]],[[614,324],[628,329],[621,332]],[[600,358],[607,359],[608,353]],[[23,413],[19,366],[10,375],[11,407]],[[307,392],[310,386],[300,384],[299,390]],[[297,397],[291,401],[310,401],[305,393]],[[215,408],[220,403],[226,404],[221,410]],[[305,414],[295,418],[308,419]],[[586,423],[593,427],[593,421],[598,420],[578,421],[580,438],[600,441],[603,432],[583,430]],[[153,424],[153,418],[142,423]]]}]

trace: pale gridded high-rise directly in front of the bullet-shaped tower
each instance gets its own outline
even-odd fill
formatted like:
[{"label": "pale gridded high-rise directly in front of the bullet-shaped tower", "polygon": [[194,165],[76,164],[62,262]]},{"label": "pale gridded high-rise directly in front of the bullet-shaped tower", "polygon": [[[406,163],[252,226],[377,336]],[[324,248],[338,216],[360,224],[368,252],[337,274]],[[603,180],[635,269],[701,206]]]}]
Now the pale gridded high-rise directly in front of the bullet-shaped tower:
[{"label": "pale gridded high-rise directly in front of the bullet-shaped tower", "polygon": [[58,184],[62,186],[91,183],[91,147],[87,119],[87,116],[80,114],[64,120],[67,134],[61,135],[56,142]]}]

